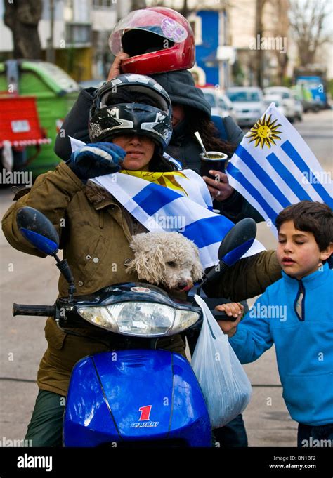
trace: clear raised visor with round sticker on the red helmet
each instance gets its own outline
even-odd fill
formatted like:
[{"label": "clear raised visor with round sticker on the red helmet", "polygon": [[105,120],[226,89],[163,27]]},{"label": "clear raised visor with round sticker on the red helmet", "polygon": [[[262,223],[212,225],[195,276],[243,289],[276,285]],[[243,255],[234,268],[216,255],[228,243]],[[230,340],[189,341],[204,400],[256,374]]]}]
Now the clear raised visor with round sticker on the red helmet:
[{"label": "clear raised visor with round sticker on the red helmet", "polygon": [[156,34],[174,44],[181,43],[188,37],[187,30],[173,18],[155,11],[137,10],[120,20],[113,29],[109,46],[114,55],[122,51],[122,36],[131,29]]}]

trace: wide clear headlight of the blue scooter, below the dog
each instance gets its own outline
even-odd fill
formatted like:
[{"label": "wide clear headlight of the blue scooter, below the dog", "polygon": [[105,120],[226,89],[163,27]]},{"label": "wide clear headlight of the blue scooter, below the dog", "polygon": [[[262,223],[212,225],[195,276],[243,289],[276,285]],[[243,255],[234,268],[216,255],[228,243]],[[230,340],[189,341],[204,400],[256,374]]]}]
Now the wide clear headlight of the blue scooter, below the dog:
[{"label": "wide clear headlight of the blue scooter, below the dog", "polygon": [[159,337],[184,331],[200,318],[198,312],[152,302],[124,302],[103,307],[79,307],[86,321],[115,333]]}]

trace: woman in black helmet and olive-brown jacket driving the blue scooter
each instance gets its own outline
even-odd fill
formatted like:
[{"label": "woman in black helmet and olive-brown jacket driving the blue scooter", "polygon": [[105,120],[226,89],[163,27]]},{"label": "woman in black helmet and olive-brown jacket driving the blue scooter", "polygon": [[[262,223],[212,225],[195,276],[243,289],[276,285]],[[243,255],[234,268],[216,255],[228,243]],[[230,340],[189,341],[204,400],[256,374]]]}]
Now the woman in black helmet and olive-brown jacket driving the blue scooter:
[{"label": "woman in black helmet and olive-brown jacket driving the blue scooter", "polygon": [[[60,248],[71,267],[77,295],[127,281],[138,281],[126,272],[133,258],[131,236],[146,232],[110,193],[92,181],[99,175],[129,171],[174,171],[162,152],[171,136],[171,102],[164,89],[148,77],[121,75],[100,88],[91,107],[91,144],[72,154],[67,163],[40,175],[29,192],[8,209],[2,222],[8,242],[19,251],[44,257],[23,239],[16,213],[31,206],[51,220],[60,236]],[[149,125],[149,126],[148,126]],[[109,141],[109,142],[107,142]],[[112,142],[110,142],[112,141]],[[261,293],[280,277],[273,253],[260,253],[235,265],[223,285],[224,295],[242,300]],[[219,293],[219,292],[218,292]],[[67,296],[60,276],[59,295]],[[61,446],[67,387],[74,364],[86,355],[118,350],[121,336],[105,343],[97,330],[65,333],[52,318],[45,327],[48,348],[37,374],[39,394],[25,439],[33,446]],[[157,347],[185,355],[180,336],[159,339]]]}]

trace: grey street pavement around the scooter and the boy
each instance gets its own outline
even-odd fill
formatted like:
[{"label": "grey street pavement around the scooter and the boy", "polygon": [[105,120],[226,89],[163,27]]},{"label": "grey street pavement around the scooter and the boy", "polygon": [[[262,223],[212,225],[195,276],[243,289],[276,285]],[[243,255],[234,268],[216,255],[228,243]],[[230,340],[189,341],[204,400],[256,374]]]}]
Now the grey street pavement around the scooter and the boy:
[{"label": "grey street pavement around the scooter and the boy", "polygon": [[[332,173],[333,112],[304,115],[295,124],[325,171]],[[0,190],[0,214],[11,205],[10,188]],[[266,223],[257,238],[266,248],[276,241]],[[13,302],[52,304],[57,296],[58,269],[52,258],[36,258],[11,248],[0,236],[0,442],[24,437],[37,395],[36,373],[46,348],[43,317],[11,315]],[[252,304],[254,299],[250,301]],[[292,346],[292,345],[291,345]],[[244,412],[249,446],[296,446],[296,423],[282,399],[274,348],[244,366],[253,385]]]}]

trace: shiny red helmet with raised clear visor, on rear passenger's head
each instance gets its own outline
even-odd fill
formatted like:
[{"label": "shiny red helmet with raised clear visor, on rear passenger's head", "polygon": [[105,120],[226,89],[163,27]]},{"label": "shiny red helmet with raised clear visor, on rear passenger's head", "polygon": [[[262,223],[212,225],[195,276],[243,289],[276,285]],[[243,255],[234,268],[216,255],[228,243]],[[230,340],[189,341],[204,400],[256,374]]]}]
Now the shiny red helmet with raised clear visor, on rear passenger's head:
[{"label": "shiny red helmet with raised clear visor, on rear passenger's head", "polygon": [[188,20],[171,8],[135,10],[120,20],[109,39],[114,55],[124,51],[124,73],[152,74],[192,68],[195,41]]}]

